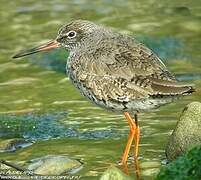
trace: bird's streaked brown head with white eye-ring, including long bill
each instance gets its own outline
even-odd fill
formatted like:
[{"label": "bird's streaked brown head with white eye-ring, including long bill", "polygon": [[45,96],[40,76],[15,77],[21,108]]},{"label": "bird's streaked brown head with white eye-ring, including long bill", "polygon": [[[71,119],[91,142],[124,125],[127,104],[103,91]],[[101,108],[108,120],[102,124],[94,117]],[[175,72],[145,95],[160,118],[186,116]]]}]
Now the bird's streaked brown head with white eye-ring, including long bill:
[{"label": "bird's streaked brown head with white eye-ring, including long bill", "polygon": [[19,58],[59,47],[73,50],[75,48],[79,48],[80,45],[87,46],[88,42],[95,42],[97,40],[97,35],[99,34],[98,29],[100,29],[97,27],[98,25],[90,21],[72,21],[59,29],[58,35],[54,40],[31,49],[21,51],[13,56],[13,58]]}]

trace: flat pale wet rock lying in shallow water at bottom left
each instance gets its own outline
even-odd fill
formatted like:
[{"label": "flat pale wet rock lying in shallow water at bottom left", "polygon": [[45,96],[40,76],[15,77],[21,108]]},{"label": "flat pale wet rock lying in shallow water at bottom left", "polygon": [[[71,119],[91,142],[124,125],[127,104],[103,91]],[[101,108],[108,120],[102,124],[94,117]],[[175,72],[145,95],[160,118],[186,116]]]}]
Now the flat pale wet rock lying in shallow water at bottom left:
[{"label": "flat pale wet rock lying in shallow water at bottom left", "polygon": [[61,175],[77,172],[82,168],[82,163],[67,156],[47,155],[30,161],[28,170],[39,175]]}]

